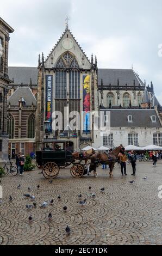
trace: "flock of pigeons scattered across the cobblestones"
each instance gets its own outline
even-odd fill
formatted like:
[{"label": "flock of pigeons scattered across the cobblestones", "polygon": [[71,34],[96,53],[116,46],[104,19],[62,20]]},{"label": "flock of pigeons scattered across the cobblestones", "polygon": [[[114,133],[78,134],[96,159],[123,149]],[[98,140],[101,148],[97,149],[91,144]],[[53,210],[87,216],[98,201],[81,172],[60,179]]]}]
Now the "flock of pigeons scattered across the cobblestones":
[{"label": "flock of pigeons scattered across the cobblestones", "polygon": [[[143,179],[144,179],[144,180],[147,180],[147,176],[145,176]],[[133,184],[134,182],[135,182],[134,180],[129,181],[130,184]],[[52,180],[49,180],[49,183],[52,183]],[[0,184],[1,184],[1,180],[0,180]],[[40,185],[37,186],[37,189],[38,189],[38,190],[39,190],[39,188],[40,188]],[[21,189],[21,184],[19,184],[19,185],[17,186],[17,190],[20,190],[20,189]],[[31,191],[32,191],[32,188],[31,188],[31,187],[28,187],[28,192],[31,192]],[[104,191],[105,191],[105,188],[104,188],[104,187],[101,188],[100,192],[101,192],[101,193],[104,193]],[[89,192],[91,192],[91,186],[89,186]],[[89,194],[87,194],[87,196],[90,196],[90,197],[92,197],[92,198],[95,198],[95,197],[96,197],[96,194],[95,194],[95,193],[89,193]],[[27,204],[27,205],[26,205],[26,210],[29,211],[29,210],[32,210],[32,209],[36,208],[37,204],[36,204],[36,202],[34,202],[35,196],[33,196],[33,195],[29,194],[29,193],[26,193],[26,194],[23,194],[23,198],[30,199],[30,201],[33,202],[33,204]],[[78,198],[80,199],[80,200],[77,202],[79,205],[85,205],[85,204],[86,204],[86,198],[85,198],[84,200],[81,200],[82,194],[78,194]],[[61,197],[60,197],[60,195],[59,195],[59,196],[58,196],[58,200],[60,200],[60,199],[61,199]],[[10,202],[13,201],[13,197],[12,197],[11,195],[9,196],[9,201],[10,201]],[[40,205],[40,209],[44,209],[44,208],[46,208],[48,205],[53,205],[53,203],[54,203],[54,200],[53,200],[53,199],[49,200],[49,202],[45,201],[45,202],[43,202],[43,203]],[[1,205],[1,204],[2,204],[2,199],[0,199],[0,205]],[[63,211],[64,211],[64,212],[67,211],[67,206],[66,206],[66,205],[63,207]],[[28,220],[29,220],[29,223],[32,223],[32,222],[33,222],[33,217],[32,217],[31,214],[30,214]],[[49,222],[52,221],[52,214],[51,214],[51,212],[49,212],[49,214],[48,214],[48,221],[49,221]],[[67,235],[70,235],[71,229],[70,229],[70,227],[68,227],[68,225],[66,226],[65,231],[66,231],[66,234],[67,234]]]}]

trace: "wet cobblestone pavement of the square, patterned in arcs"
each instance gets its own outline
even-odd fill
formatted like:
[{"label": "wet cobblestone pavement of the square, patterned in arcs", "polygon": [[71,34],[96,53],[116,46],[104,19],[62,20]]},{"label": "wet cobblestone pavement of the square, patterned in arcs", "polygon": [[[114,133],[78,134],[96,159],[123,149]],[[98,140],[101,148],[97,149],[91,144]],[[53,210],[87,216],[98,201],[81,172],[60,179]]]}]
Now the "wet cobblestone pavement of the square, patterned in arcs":
[{"label": "wet cobblestone pavement of the square, patterned in arcs", "polygon": [[[0,245],[161,245],[162,199],[158,198],[158,187],[162,185],[162,161],[156,168],[151,162],[141,162],[137,169],[137,175],[131,176],[128,164],[128,176],[121,176],[116,164],[113,178],[109,178],[108,170],[100,167],[98,178],[85,175],[74,179],[66,168],[60,170],[52,184],[38,174],[39,170],[2,178]],[[145,175],[147,180],[142,179]],[[133,179],[134,184],[130,184]],[[26,204],[31,201],[22,195],[28,193],[29,186],[38,206],[27,211]],[[89,186],[96,198],[90,197]],[[104,193],[101,187],[105,187]],[[79,193],[83,199],[87,198],[84,206],[77,204]],[[12,202],[9,202],[10,194]],[[40,209],[41,203],[49,199],[54,204]],[[65,205],[67,212],[63,211]],[[47,220],[49,211],[53,216],[51,222]],[[28,222],[30,214],[32,223]],[[67,224],[71,228],[70,236],[65,234]]]}]

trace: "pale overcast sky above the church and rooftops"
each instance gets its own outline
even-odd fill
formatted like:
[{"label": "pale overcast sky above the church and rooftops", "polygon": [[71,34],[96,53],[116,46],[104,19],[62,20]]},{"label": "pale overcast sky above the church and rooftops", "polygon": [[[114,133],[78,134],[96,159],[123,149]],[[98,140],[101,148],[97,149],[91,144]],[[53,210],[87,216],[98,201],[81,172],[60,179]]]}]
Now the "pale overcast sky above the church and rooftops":
[{"label": "pale overcast sky above the church and rooftops", "polygon": [[0,16],[15,32],[10,35],[9,66],[37,66],[69,28],[98,68],[133,68],[154,84],[162,105],[161,0],[3,0]]}]

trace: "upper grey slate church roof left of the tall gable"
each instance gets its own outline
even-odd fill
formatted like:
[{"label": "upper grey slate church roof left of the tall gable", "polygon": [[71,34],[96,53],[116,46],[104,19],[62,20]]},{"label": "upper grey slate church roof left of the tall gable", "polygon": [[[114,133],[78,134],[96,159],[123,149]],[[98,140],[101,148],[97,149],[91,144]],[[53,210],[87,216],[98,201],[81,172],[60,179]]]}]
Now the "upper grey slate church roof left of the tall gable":
[{"label": "upper grey slate church roof left of the tall gable", "polygon": [[14,78],[14,83],[11,84],[20,85],[23,83],[29,85],[30,78],[32,78],[32,84],[37,84],[38,69],[36,67],[28,66],[9,66],[8,76],[10,80],[13,80]]}]

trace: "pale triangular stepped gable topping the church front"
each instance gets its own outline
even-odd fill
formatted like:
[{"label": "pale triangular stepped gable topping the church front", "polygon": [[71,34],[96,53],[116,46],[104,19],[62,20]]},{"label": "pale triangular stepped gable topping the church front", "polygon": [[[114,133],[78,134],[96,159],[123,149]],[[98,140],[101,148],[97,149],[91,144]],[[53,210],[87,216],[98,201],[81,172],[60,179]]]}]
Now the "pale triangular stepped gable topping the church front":
[{"label": "pale triangular stepped gable topping the church front", "polygon": [[66,29],[52,52],[48,55],[45,61],[45,68],[90,69],[91,64],[70,30]]}]

